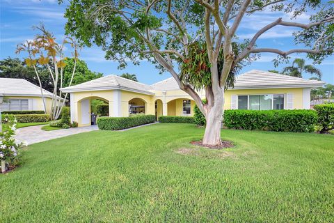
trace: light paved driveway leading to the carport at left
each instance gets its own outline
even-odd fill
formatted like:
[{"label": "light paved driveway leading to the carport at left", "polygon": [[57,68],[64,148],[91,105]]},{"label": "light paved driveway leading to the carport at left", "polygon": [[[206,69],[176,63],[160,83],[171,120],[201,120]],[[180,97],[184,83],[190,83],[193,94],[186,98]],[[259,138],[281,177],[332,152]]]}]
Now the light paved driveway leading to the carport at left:
[{"label": "light paved driveway leading to the carport at left", "polygon": [[27,144],[35,144],[40,141],[47,141],[50,139],[56,139],[65,137],[71,134],[78,134],[81,132],[90,132],[93,130],[98,130],[97,125],[90,125],[86,127],[79,128],[68,128],[61,130],[53,130],[53,131],[44,131],[41,130],[43,125],[35,125],[29,126],[25,128],[17,129],[15,139],[20,142],[26,141]]}]

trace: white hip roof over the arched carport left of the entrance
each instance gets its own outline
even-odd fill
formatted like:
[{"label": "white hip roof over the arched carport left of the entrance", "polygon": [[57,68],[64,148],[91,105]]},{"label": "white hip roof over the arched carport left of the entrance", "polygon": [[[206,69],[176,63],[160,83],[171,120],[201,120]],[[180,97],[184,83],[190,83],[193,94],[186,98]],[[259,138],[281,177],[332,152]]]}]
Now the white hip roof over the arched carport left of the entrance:
[{"label": "white hip roof over the arched carport left of the entrance", "polygon": [[134,91],[137,93],[143,93],[148,95],[154,95],[150,92],[152,87],[146,84],[141,84],[139,82],[134,82],[130,79],[119,77],[117,75],[108,75],[93,79],[89,82],[84,82],[82,84],[77,84],[74,86],[69,86],[63,88],[63,92],[78,92],[78,91],[102,91],[102,90],[113,90],[121,89],[125,91]]}]

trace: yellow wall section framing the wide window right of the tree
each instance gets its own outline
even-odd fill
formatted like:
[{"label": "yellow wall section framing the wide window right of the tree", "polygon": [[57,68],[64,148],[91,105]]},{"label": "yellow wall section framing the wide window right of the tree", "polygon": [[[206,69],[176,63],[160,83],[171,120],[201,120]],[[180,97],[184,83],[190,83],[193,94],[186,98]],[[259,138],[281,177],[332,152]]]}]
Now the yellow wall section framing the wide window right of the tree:
[{"label": "yellow wall section framing the wide window right of the tree", "polygon": [[287,106],[286,95],[293,95],[293,109],[303,109],[303,89],[245,89],[225,91],[224,109],[231,109],[232,95],[256,95],[280,93],[285,95],[285,107]]}]

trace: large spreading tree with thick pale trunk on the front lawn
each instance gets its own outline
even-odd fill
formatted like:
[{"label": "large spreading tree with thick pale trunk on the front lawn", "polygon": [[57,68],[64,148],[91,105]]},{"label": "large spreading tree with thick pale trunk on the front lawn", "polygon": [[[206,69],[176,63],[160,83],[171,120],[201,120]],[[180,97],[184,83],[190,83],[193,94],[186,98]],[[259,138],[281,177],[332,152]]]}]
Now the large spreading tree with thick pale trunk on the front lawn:
[{"label": "large spreading tree with thick pale trunk on the front lawn", "polygon": [[[332,6],[319,0],[71,0],[65,29],[88,46],[101,46],[106,59],[120,61],[120,66],[129,60],[136,64],[148,59],[170,72],[207,120],[203,144],[221,144],[224,91],[231,73],[250,55],[262,52],[280,58],[294,53],[317,54],[313,59],[321,61],[333,52]],[[313,15],[309,24],[278,17],[250,40],[238,38],[242,22],[253,26],[247,24],[246,17],[262,10],[292,13],[292,17],[310,10]],[[274,27],[296,28],[295,41],[305,43],[305,49],[285,52],[260,47],[257,39]],[[200,50],[202,43],[205,49]],[[192,53],[196,51],[205,55],[196,56]],[[180,72],[175,68],[177,63]],[[200,89],[205,89],[205,102],[197,93]]]}]

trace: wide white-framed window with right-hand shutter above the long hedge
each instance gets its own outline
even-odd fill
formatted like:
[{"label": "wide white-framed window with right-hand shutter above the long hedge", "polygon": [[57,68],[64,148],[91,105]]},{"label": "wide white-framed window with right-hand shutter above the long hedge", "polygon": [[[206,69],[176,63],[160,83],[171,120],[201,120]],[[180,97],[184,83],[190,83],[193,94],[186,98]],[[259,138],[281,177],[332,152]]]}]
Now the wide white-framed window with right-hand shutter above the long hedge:
[{"label": "wide white-framed window with right-hand shutter above the long hedge", "polygon": [[271,110],[284,109],[284,95],[239,95],[238,109]]}]

